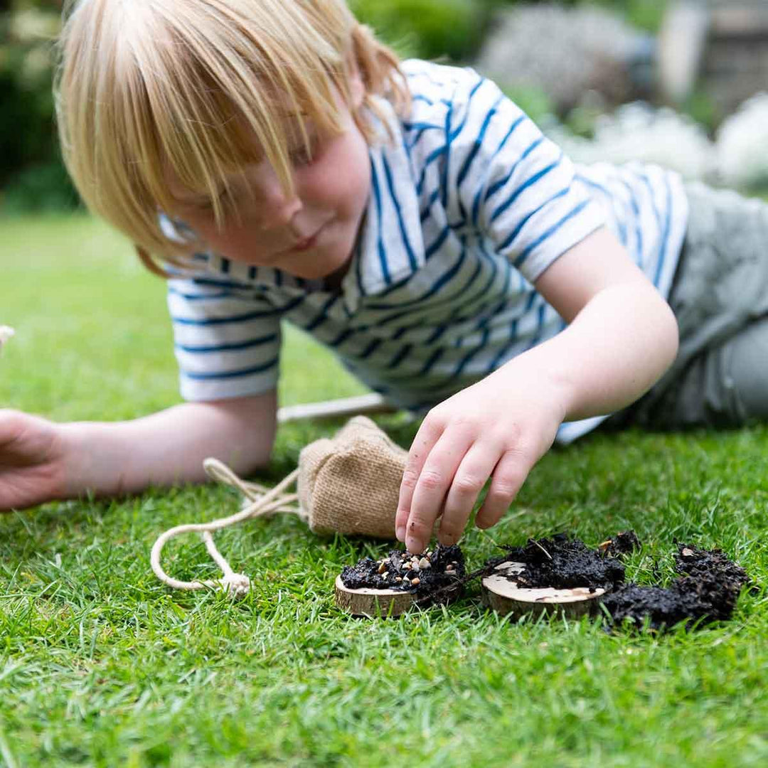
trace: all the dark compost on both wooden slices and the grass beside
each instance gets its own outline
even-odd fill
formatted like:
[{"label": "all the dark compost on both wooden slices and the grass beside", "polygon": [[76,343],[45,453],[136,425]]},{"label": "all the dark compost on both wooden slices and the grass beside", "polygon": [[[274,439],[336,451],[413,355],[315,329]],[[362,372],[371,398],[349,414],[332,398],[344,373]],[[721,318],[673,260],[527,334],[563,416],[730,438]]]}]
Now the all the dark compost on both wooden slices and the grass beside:
[{"label": "all the dark compost on both wooden slices and the grass beside", "polygon": [[466,573],[461,549],[455,545],[438,545],[434,551],[418,555],[392,550],[381,560],[363,558],[354,566],[346,566],[341,579],[349,589],[412,592],[418,603],[429,604],[448,602],[458,596],[467,581],[494,573],[502,562],[514,561],[525,568],[507,578],[521,588],[604,589],[607,594],[599,600],[611,624],[628,621],[657,631],[681,621],[687,627],[698,627],[729,619],[741,589],[750,581],[746,571],[721,550],[678,545],[675,568],[680,576],[668,587],[626,583],[621,558],[639,546],[632,531],[617,534],[595,549],[558,534],[528,539],[522,547],[505,546],[505,554],[470,574]]}]

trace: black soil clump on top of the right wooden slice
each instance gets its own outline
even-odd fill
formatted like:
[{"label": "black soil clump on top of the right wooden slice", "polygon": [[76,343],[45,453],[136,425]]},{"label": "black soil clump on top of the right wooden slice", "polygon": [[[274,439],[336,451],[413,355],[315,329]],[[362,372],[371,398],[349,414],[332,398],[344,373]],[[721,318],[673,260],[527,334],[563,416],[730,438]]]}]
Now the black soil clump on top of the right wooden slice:
[{"label": "black soil clump on top of the right wooden slice", "polygon": [[[634,533],[631,536],[637,540]],[[594,592],[596,589],[613,589],[624,582],[621,561],[599,548],[590,549],[583,541],[568,538],[565,534],[538,541],[528,539],[524,547],[505,547],[505,550],[507,554],[495,558],[492,565],[505,561],[524,563],[524,571],[508,577],[523,588],[585,587]]]}]

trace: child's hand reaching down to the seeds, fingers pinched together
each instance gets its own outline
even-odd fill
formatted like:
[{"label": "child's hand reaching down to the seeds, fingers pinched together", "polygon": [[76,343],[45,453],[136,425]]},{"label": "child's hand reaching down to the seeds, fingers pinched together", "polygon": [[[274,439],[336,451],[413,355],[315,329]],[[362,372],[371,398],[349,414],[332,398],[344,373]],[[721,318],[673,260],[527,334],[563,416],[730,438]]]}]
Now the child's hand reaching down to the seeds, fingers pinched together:
[{"label": "child's hand reaching down to the seeds, fingers pinched together", "polygon": [[512,361],[433,408],[409,452],[400,487],[397,538],[412,552],[455,544],[486,480],[478,528],[508,510],[528,472],[548,451],[564,417],[562,393],[522,361]]}]

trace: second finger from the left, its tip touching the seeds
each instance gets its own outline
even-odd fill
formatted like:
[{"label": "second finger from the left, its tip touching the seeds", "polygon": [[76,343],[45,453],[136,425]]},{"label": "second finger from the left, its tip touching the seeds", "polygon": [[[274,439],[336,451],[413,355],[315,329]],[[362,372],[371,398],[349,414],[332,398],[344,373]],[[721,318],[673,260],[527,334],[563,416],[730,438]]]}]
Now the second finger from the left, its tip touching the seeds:
[{"label": "second finger from the left, its tip touching the seeds", "polygon": [[443,432],[429,452],[413,490],[406,525],[406,548],[423,551],[432,537],[432,526],[442,511],[445,495],[465,452],[471,445],[467,436],[455,430]]}]

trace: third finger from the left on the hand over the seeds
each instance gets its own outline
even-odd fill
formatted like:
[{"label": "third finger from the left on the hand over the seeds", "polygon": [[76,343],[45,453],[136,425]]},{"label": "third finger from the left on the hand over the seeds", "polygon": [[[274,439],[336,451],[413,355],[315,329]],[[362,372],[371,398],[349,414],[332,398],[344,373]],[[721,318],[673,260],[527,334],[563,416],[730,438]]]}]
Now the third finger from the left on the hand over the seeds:
[{"label": "third finger from the left on the hand over the seeds", "polygon": [[455,544],[462,537],[469,513],[496,465],[498,454],[495,446],[475,443],[458,465],[440,520],[438,540],[442,545]]}]

